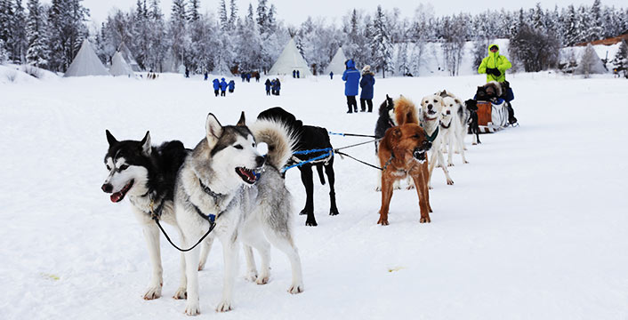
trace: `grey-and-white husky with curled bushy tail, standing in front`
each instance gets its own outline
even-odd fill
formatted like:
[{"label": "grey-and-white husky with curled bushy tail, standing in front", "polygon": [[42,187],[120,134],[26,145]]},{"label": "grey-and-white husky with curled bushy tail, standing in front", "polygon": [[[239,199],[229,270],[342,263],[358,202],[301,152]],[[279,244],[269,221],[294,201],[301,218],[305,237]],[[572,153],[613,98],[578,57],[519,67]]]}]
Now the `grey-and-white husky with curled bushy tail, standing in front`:
[{"label": "grey-and-white husky with curled bushy tail, standing in front", "polygon": [[[294,148],[294,138],[283,124],[262,120],[246,127],[244,112],[237,125],[222,126],[213,114],[207,116],[205,138],[186,158],[174,191],[176,220],[183,244],[193,245],[210,228],[221,240],[224,283],[216,310],[232,308],[233,282],[238,271],[238,246],[245,244],[248,276],[257,284],[269,281],[270,244],[286,253],[292,266],[290,293],[303,291],[301,259],[292,232],[292,198],[279,172]],[[261,156],[257,141],[268,144]],[[251,247],[262,257],[258,275]],[[188,302],[185,313],[200,312],[198,297],[198,250],[185,253]]]}]

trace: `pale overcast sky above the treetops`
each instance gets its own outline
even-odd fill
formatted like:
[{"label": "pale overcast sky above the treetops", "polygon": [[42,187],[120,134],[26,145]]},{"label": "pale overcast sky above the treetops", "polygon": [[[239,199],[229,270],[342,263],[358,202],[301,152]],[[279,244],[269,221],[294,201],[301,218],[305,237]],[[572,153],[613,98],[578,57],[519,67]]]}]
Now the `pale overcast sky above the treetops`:
[{"label": "pale overcast sky above the treetops", "polygon": [[[44,0],[44,2],[50,3],[50,0]],[[116,7],[125,12],[135,6],[136,0],[83,0],[83,4],[87,7],[91,14],[92,19],[101,23],[105,20],[112,8]],[[499,10],[504,8],[506,10],[518,10],[523,7],[524,9],[532,8],[539,0],[519,0],[519,1],[499,1],[499,0],[439,0],[436,2],[423,2],[423,4],[431,4],[434,8],[436,16],[443,16],[459,12],[478,13],[486,11],[487,9]],[[390,10],[397,7],[401,10],[403,16],[411,17],[415,8],[421,2],[409,1],[409,0],[318,0],[318,1],[298,1],[298,0],[269,0],[270,4],[275,4],[278,11],[278,19],[286,21],[287,24],[298,25],[302,21],[306,20],[308,16],[312,17],[326,17],[328,21],[340,21],[340,17],[346,12],[349,12],[353,8],[364,9],[366,12],[374,12],[377,8],[377,4],[382,4],[382,8]],[[625,7],[625,0],[602,0],[603,5]],[[170,16],[170,8],[172,0],[161,0],[163,11],[167,17]],[[217,12],[219,0],[200,0],[201,12]],[[229,5],[229,0],[227,0]],[[253,4],[254,9],[257,5],[257,0],[238,0],[237,1],[240,15],[243,15],[248,8],[248,4]],[[593,0],[579,1],[579,0],[552,0],[543,1],[543,9],[553,9],[554,5],[558,5],[559,8],[567,7],[569,4],[592,5]]]}]

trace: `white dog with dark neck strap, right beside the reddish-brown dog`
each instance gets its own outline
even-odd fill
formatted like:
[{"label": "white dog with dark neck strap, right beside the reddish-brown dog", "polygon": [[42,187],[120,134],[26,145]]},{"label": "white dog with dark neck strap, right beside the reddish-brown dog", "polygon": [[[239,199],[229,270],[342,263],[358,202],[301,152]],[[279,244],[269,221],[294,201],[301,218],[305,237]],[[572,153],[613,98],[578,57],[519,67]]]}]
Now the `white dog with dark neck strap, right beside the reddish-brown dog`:
[{"label": "white dog with dark neck strap, right beside the reddish-brown dog", "polygon": [[[440,115],[443,109],[443,98],[440,94],[432,94],[423,97],[421,100],[421,126],[427,134],[428,140],[432,142],[430,164],[430,180],[428,182],[428,188],[431,188],[431,172],[434,170],[437,158],[439,164],[445,164],[443,158],[443,152],[440,146],[443,143],[443,135],[440,133]],[[445,177],[447,178],[447,184],[453,185],[454,180],[449,177],[449,171],[447,165],[441,165]]]}]

